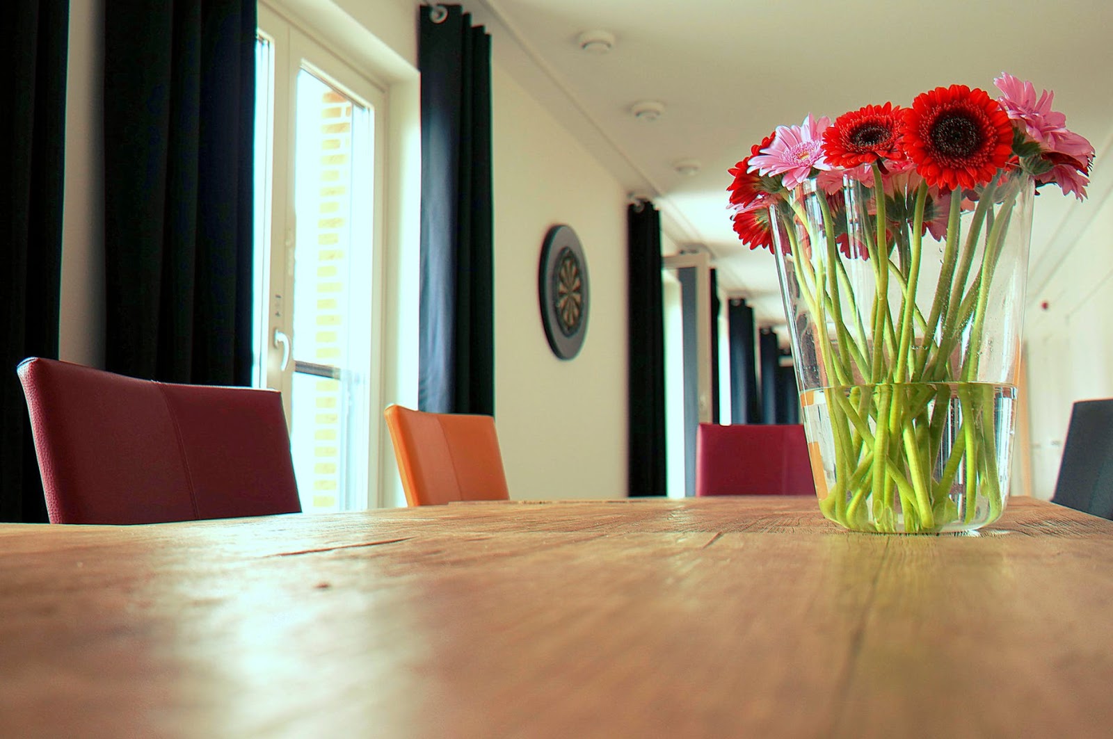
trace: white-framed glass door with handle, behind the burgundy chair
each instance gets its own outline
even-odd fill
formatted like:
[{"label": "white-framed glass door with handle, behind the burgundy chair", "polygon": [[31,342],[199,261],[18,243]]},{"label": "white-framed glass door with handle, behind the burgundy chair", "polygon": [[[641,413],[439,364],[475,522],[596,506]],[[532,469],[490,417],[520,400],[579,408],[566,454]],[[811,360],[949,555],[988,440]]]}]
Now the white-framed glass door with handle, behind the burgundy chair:
[{"label": "white-framed glass door with handle, behind the burgundy chair", "polygon": [[[259,12],[257,95],[272,141],[257,174],[257,382],[282,391],[307,512],[367,508],[378,243],[376,118],[382,93],[347,65]],[[377,421],[377,411],[375,412]]]}]

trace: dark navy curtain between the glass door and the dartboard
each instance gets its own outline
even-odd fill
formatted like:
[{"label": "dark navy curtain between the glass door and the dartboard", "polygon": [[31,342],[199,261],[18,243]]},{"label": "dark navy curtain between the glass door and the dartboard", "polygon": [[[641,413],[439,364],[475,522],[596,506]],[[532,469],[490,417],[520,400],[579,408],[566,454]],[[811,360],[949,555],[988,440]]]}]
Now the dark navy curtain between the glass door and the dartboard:
[{"label": "dark navy curtain between the glass door and the dartboard", "polygon": [[494,414],[491,37],[460,6],[418,8],[421,308],[418,398]]}]

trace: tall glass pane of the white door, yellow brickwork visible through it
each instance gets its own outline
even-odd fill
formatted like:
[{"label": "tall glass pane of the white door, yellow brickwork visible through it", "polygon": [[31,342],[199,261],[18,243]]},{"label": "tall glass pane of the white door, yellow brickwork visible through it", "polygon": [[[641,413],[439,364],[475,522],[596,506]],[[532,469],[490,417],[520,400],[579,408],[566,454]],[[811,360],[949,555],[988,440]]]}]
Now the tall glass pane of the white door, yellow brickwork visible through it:
[{"label": "tall glass pane of the white door, yellow brickwork visible through it", "polygon": [[339,511],[367,497],[371,300],[359,276],[371,268],[373,119],[304,68],[296,96],[294,466],[304,510]]}]

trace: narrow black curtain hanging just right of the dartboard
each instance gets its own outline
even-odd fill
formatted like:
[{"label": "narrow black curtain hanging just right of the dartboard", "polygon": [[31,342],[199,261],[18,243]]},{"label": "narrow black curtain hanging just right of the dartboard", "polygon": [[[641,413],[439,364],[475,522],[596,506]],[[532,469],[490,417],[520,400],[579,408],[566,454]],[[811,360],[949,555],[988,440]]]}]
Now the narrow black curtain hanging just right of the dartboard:
[{"label": "narrow black curtain hanging just right of the dartboard", "polygon": [[661,220],[649,203],[627,209],[629,494],[664,495],[664,317]]}]

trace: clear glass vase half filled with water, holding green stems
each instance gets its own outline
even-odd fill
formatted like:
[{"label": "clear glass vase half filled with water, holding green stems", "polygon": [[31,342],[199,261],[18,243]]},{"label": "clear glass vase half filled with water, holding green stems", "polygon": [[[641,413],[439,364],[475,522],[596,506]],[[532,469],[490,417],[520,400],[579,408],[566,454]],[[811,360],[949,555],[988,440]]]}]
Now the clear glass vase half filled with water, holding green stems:
[{"label": "clear glass vase half filled with water, holding green stems", "polygon": [[855,531],[978,529],[1008,495],[1034,181],[859,175],[770,213],[819,508]]}]

